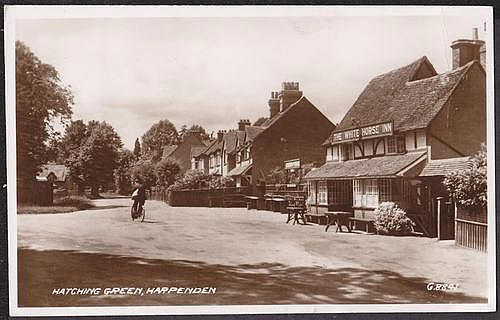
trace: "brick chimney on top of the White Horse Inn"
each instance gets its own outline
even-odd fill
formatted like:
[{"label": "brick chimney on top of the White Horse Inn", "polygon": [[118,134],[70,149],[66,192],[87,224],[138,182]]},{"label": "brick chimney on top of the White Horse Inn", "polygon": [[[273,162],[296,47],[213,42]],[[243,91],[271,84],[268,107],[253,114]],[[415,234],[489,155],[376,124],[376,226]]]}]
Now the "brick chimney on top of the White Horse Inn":
[{"label": "brick chimney on top of the White Horse Inn", "polygon": [[[451,43],[453,69],[466,65],[472,60],[478,60],[481,64],[481,49],[484,48],[484,41],[478,39],[477,28],[472,29],[472,40],[458,39]],[[486,53],[486,51],[485,51]],[[486,57],[486,54],[484,54]]]}]

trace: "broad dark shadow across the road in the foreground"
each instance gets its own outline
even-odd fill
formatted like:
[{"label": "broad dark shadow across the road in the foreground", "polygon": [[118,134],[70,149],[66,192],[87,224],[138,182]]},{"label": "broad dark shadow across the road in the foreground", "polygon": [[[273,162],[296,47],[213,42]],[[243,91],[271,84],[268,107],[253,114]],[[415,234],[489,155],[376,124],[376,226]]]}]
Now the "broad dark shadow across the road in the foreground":
[{"label": "broad dark shadow across the road in the foreground", "polygon": [[[227,266],[73,251],[18,250],[19,306],[486,303],[429,292],[429,280],[387,270]],[[56,296],[54,288],[216,287],[216,294]],[[146,289],[144,289],[146,290]]]}]

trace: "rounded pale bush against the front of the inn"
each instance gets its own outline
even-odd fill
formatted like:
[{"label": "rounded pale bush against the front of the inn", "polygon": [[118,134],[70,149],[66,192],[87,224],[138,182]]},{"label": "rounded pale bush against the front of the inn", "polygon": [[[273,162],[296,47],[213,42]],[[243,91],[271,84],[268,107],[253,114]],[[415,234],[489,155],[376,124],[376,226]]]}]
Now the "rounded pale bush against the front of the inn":
[{"label": "rounded pale bush against the front of the inn", "polygon": [[382,234],[403,235],[413,230],[415,223],[408,218],[406,211],[394,202],[382,202],[375,210],[375,229]]}]

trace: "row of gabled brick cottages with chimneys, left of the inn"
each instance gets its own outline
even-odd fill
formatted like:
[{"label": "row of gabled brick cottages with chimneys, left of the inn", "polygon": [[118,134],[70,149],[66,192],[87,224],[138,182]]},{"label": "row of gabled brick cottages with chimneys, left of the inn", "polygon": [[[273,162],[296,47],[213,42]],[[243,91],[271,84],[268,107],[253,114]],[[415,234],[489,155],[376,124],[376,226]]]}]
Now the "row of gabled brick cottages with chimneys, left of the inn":
[{"label": "row of gabled brick cottages with chimneys, left of the inn", "polygon": [[268,104],[269,117],[260,125],[240,120],[237,130],[219,131],[193,156],[192,169],[232,177],[237,187],[256,187],[287,160],[322,163],[319,146],[335,126],[302,94],[299,83],[283,82]]}]

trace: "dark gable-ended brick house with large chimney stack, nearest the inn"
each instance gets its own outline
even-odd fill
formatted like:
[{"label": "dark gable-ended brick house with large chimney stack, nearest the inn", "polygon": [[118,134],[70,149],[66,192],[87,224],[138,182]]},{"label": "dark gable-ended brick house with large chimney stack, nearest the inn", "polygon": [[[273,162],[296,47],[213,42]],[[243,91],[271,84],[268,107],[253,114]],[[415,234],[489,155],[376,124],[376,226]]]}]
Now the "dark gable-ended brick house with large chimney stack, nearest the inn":
[{"label": "dark gable-ended brick house with large chimney stack, nearest the inn", "polygon": [[323,163],[321,143],[335,128],[299,89],[298,82],[283,82],[280,92],[272,92],[269,118],[260,126],[245,128],[238,140],[236,166],[227,175],[236,185],[269,183],[269,174],[285,162]]}]

